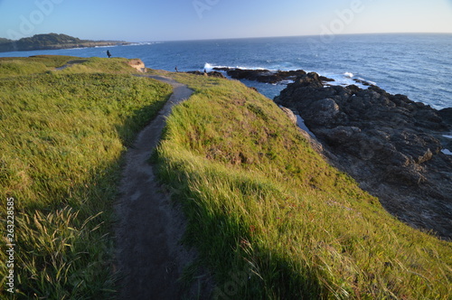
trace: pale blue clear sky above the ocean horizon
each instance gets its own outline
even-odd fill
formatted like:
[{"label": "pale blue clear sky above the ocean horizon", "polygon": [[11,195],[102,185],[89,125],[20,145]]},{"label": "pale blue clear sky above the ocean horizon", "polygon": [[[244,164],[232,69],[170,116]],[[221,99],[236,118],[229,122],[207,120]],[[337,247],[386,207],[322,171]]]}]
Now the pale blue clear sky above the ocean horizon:
[{"label": "pale blue clear sky above the ocean horizon", "polygon": [[0,37],[155,42],[452,33],[452,0],[0,0]]}]

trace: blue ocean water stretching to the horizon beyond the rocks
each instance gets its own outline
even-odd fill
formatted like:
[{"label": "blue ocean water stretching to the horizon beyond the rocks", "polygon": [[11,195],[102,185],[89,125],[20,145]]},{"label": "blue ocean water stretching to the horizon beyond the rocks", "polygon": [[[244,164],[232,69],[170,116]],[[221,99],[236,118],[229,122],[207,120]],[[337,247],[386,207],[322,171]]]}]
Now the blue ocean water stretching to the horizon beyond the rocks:
[{"label": "blue ocean water stretching to the horizon beyond the rocks", "polygon": [[[6,52],[0,56],[38,54],[139,58],[161,70],[204,70],[215,66],[247,69],[315,71],[342,84],[368,80],[393,94],[404,94],[433,108],[452,107],[452,34],[403,33],[278,37],[191,42],[146,42],[108,48]],[[253,81],[273,98],[285,85]]]}]

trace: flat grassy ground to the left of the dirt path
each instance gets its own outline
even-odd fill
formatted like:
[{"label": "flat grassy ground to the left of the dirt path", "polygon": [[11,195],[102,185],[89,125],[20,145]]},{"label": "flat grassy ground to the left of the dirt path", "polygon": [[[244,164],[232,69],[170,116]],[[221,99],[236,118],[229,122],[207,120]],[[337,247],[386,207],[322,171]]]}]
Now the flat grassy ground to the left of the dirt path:
[{"label": "flat grassy ground to the left of the dirt path", "polygon": [[[108,298],[121,154],[171,87],[124,59],[0,60],[1,235],[15,199],[15,297]],[[5,239],[0,297],[5,291]]]}]

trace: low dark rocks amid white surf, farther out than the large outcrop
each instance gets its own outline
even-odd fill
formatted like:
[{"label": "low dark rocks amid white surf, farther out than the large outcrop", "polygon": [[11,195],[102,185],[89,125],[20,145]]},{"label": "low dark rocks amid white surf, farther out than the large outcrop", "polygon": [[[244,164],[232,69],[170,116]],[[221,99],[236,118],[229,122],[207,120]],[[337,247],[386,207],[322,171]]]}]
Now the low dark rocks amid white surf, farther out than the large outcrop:
[{"label": "low dark rocks amid white surf, farther out than the large outcrop", "polygon": [[[214,68],[213,70],[226,71],[228,76],[235,80],[253,80],[263,83],[279,83],[284,80],[296,80],[298,76],[306,75],[304,70],[248,70],[238,68]],[[323,81],[334,81],[322,77]]]}]

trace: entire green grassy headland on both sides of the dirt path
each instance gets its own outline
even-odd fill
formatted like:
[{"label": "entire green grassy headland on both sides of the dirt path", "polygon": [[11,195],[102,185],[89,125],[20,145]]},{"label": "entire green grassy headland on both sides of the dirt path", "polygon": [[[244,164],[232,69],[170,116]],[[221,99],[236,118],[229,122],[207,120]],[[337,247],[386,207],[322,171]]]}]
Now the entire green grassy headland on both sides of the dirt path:
[{"label": "entire green grassy headland on both sides of the dirt path", "polygon": [[[171,90],[130,76],[126,61],[0,59],[1,296],[7,198],[15,298],[114,296],[121,154]],[[391,217],[272,101],[237,81],[167,75],[195,94],[174,108],[154,160],[184,206],[186,242],[215,275],[214,296],[449,298],[451,244]]]}]

